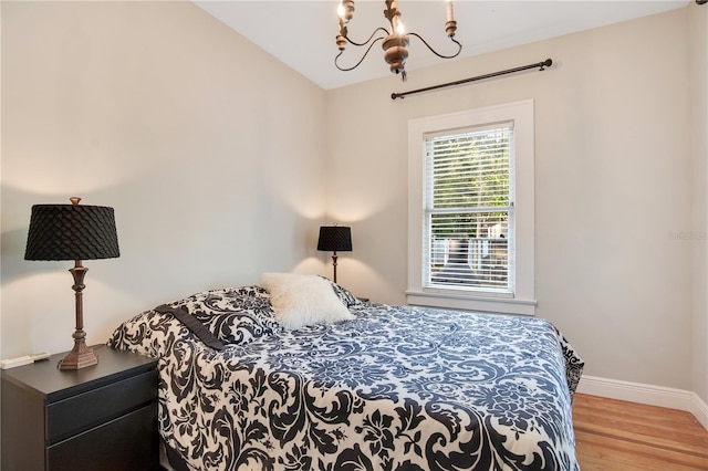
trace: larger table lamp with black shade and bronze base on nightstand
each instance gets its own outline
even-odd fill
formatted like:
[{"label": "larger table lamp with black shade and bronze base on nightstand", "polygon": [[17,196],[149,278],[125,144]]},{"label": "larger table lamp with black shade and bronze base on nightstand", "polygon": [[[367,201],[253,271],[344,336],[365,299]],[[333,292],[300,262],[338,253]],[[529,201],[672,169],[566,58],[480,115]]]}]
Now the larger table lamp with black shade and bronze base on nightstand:
[{"label": "larger table lamp with black shade and bronze base on nightstand", "polygon": [[121,253],[113,208],[81,206],[81,198],[70,200],[71,205],[32,207],[24,260],[74,260],[74,268],[69,270],[74,276],[72,289],[76,297],[74,348],[59,363],[59,368],[81,369],[98,363],[85,342],[82,291],[88,270],[81,261],[114,259]]}]

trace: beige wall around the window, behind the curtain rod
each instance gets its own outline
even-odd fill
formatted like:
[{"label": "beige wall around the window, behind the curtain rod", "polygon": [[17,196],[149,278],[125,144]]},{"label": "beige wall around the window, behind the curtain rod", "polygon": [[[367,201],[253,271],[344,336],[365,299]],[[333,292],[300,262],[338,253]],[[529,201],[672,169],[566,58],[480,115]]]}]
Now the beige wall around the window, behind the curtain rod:
[{"label": "beige wall around the window, behind the curtain rod", "polygon": [[[683,9],[331,92],[327,211],[355,243],[342,281],[405,302],[409,119],[532,98],[537,315],[587,375],[693,390],[694,243],[675,237],[693,229],[687,22]],[[389,98],[546,57],[544,72]]]}]

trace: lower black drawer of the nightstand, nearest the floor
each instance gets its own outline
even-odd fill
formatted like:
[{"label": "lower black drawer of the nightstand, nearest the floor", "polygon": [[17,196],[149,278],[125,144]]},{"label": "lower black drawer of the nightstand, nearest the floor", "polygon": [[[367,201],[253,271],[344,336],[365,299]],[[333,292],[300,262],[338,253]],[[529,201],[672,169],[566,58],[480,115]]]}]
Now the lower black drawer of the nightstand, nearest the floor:
[{"label": "lower black drawer of the nightstand, nearest the floor", "polygon": [[46,449],[48,471],[147,471],[159,469],[158,438],[152,433],[157,405],[124,417]]}]

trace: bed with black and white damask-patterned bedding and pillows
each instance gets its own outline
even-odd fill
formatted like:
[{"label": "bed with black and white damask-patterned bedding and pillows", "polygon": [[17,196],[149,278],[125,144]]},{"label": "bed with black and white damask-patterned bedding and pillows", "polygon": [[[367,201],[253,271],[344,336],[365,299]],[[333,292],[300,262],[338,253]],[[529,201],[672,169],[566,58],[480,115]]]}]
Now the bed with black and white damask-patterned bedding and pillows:
[{"label": "bed with black and white damask-patterned bedding and pillows", "polygon": [[173,469],[579,469],[583,362],[550,322],[361,302],[308,282],[325,303],[308,290],[283,301],[272,283],[210,290],[108,339],[158,358]]}]

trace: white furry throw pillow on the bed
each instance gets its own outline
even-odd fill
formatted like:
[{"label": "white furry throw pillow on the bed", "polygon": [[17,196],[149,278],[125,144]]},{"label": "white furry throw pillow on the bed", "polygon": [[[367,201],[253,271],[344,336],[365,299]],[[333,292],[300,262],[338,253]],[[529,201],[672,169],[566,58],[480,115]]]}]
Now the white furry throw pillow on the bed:
[{"label": "white furry throw pillow on the bed", "polygon": [[355,318],[321,276],[263,273],[261,285],[270,293],[275,320],[288,329]]}]

